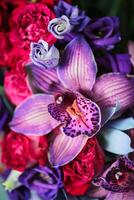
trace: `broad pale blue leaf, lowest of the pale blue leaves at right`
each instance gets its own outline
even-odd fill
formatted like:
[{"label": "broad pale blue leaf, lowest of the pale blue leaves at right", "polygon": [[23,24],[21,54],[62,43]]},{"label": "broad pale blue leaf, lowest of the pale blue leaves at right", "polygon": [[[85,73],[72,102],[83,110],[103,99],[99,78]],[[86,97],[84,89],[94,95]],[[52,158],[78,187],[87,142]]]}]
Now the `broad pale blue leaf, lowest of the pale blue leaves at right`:
[{"label": "broad pale blue leaf, lowest of the pale blue leaves at right", "polygon": [[120,130],[103,128],[100,139],[103,148],[111,153],[124,155],[133,151],[130,147],[130,137]]}]

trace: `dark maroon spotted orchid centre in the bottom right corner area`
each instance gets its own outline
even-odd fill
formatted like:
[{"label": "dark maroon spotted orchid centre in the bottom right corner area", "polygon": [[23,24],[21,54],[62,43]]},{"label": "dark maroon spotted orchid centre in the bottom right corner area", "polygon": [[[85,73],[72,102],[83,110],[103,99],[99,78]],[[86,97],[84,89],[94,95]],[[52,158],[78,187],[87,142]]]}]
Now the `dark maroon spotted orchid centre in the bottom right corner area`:
[{"label": "dark maroon spotted orchid centre in the bottom right corner area", "polygon": [[94,183],[112,192],[134,191],[134,162],[121,157]]}]

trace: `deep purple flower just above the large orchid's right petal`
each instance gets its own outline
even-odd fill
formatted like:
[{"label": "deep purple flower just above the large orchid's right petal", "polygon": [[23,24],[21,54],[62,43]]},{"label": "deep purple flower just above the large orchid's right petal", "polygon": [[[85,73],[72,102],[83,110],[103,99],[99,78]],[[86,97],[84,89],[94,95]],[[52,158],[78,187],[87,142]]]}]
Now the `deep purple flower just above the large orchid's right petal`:
[{"label": "deep purple flower just above the large orchid's right petal", "polygon": [[113,72],[129,74],[131,72],[130,56],[128,54],[111,54],[105,52],[103,56],[97,58],[97,64],[102,69],[107,69]]}]

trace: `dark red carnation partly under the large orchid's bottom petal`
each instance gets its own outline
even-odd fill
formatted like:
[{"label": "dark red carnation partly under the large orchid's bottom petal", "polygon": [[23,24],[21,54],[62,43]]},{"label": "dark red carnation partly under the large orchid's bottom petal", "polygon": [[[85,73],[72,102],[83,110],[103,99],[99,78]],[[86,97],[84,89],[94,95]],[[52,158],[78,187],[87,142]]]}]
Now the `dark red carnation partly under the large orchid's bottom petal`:
[{"label": "dark red carnation partly under the large orchid's bottom petal", "polygon": [[[100,168],[102,168],[104,157],[103,155],[98,157],[97,146],[95,138],[89,139],[80,154],[72,162],[63,167],[64,186],[70,195],[84,195],[90,187],[90,182],[95,172],[97,171],[98,173]],[[103,161],[99,160],[99,158]],[[96,164],[100,167],[96,168]]]}]

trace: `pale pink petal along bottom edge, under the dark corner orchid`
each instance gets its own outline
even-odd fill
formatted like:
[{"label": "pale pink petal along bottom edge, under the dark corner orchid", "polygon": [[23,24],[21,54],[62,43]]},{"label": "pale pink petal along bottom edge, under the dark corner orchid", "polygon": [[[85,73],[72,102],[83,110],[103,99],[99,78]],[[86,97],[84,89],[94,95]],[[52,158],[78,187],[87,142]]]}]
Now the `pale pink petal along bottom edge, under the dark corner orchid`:
[{"label": "pale pink petal along bottom edge, under the dark corner orchid", "polygon": [[117,192],[109,192],[105,200],[133,200],[134,199],[134,192],[123,192],[123,193],[117,193]]}]

